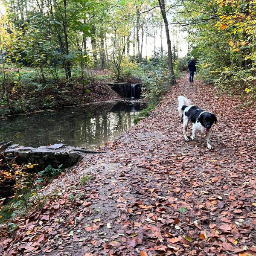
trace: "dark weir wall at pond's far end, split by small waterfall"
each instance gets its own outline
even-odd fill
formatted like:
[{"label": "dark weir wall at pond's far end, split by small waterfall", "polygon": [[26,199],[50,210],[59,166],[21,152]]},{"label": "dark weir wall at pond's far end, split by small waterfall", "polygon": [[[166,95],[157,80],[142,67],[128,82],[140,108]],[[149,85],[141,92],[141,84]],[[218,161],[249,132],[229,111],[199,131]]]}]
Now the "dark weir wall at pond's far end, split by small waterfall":
[{"label": "dark weir wall at pond's far end, split by small waterfall", "polygon": [[[108,84],[116,93],[124,98],[131,98],[131,84],[130,83],[118,83],[118,84]],[[135,98],[141,97],[141,87],[142,83],[137,83],[135,85]]]}]

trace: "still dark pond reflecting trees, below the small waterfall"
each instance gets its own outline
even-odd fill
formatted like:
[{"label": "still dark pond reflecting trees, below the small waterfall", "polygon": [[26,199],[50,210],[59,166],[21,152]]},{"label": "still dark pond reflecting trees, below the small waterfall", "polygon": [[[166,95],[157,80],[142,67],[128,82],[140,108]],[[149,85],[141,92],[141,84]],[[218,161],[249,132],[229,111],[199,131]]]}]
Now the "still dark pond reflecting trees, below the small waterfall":
[{"label": "still dark pond reflecting trees, below the small waterfall", "polygon": [[38,147],[55,143],[96,148],[134,125],[145,104],[120,102],[60,108],[0,120],[0,141]]}]

